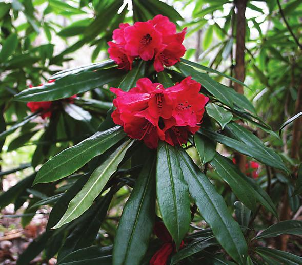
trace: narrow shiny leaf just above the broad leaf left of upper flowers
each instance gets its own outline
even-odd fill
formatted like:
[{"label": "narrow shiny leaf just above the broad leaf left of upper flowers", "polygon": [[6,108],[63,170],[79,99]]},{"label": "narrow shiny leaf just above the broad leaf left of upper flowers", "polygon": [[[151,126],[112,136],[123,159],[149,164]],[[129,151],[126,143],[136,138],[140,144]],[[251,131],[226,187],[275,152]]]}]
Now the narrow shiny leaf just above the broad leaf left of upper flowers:
[{"label": "narrow shiny leaf just above the broad leaf left of upper flowers", "polygon": [[104,68],[104,67],[112,66],[114,64],[115,63],[114,63],[113,60],[106,60],[106,61],[99,62],[99,63],[94,63],[94,64],[75,67],[75,68],[70,68],[70,69],[62,70],[62,71],[59,71],[59,72],[53,74],[49,78],[49,80],[63,78],[66,75],[69,75],[69,74],[76,74],[76,73],[86,72],[86,71],[94,71],[94,70],[98,70],[98,69],[101,69],[101,68]]}]

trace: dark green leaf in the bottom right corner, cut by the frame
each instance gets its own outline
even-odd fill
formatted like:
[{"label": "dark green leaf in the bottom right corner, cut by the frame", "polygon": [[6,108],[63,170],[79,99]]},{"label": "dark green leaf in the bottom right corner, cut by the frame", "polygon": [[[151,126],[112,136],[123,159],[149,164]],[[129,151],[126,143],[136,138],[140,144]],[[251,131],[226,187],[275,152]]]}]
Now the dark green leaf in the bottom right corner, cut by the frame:
[{"label": "dark green leaf in the bottom right corner, cut by the frame", "polygon": [[275,250],[271,248],[265,248],[265,247],[257,247],[255,248],[255,252],[258,254],[267,255],[277,261],[282,262],[283,264],[287,264],[287,265],[302,264],[301,257],[291,254],[289,252]]}]

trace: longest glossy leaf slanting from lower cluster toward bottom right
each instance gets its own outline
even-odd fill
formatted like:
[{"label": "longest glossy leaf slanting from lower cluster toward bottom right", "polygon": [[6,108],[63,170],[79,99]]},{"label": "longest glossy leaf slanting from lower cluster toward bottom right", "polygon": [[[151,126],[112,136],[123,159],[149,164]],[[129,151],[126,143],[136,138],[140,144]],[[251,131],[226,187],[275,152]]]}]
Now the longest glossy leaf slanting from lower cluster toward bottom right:
[{"label": "longest glossy leaf slanting from lower cluster toward bottom right", "polygon": [[247,243],[223,197],[216,192],[209,179],[200,172],[185,150],[178,148],[177,156],[189,192],[200,214],[211,226],[216,239],[228,254],[239,264],[244,264],[247,258]]}]

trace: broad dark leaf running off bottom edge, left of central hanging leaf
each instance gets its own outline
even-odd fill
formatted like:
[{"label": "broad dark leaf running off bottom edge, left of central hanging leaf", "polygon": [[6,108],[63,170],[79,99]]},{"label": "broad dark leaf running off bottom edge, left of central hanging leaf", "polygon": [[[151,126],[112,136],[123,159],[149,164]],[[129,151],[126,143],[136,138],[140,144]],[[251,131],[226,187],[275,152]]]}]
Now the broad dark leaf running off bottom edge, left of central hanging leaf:
[{"label": "broad dark leaf running off bottom edge, left of central hanging leaf", "polygon": [[155,157],[147,156],[122,217],[113,247],[113,264],[140,264],[148,249],[155,216]]}]

